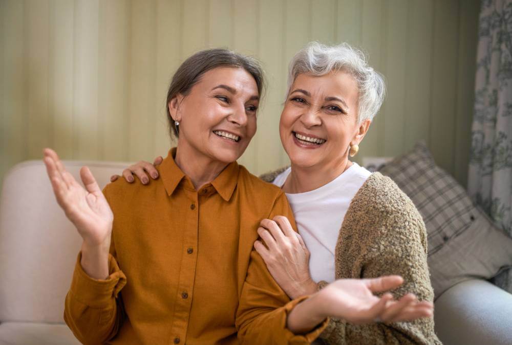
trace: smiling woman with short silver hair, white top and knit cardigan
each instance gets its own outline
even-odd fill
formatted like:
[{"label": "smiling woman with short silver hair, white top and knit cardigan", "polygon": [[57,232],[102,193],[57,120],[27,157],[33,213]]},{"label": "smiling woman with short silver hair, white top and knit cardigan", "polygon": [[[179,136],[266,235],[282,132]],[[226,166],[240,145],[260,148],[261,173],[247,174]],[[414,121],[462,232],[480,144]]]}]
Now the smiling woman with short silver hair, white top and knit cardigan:
[{"label": "smiling woman with short silver hair, white top and knit cardigan", "polygon": [[[293,220],[276,216],[261,221],[260,240],[254,243],[290,298],[328,289],[338,279],[403,277],[403,285],[392,291],[401,298],[396,309],[373,324],[331,318],[321,335],[327,343],[440,343],[432,316],[410,322],[397,317],[415,298],[425,308],[432,305],[423,220],[391,179],[349,160],[384,97],[382,77],[360,51],[346,43],[308,44],[290,62],[280,121],[291,166],[261,176],[286,193],[300,234],[293,232]],[[141,162],[123,175],[148,181],[145,172],[157,173]],[[306,332],[320,323],[326,316],[321,302],[294,308],[288,327]]]}]

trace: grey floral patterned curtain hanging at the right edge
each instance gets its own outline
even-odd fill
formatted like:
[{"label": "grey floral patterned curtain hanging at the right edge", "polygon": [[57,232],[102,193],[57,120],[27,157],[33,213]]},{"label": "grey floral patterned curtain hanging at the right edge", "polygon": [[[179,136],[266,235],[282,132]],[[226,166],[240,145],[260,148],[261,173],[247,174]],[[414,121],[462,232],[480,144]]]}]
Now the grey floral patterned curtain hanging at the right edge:
[{"label": "grey floral patterned curtain hanging at the right edge", "polygon": [[512,0],[482,0],[468,192],[512,236]]}]

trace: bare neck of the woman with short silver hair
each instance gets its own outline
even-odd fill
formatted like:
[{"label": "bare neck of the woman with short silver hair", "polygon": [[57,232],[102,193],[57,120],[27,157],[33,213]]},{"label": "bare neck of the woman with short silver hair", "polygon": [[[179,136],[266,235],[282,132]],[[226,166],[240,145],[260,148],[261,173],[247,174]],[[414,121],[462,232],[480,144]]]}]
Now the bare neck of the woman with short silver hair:
[{"label": "bare neck of the woman with short silver hair", "polygon": [[291,164],[291,171],[283,185],[283,191],[289,194],[306,193],[327,185],[352,165],[345,156],[322,167],[300,167]]}]

